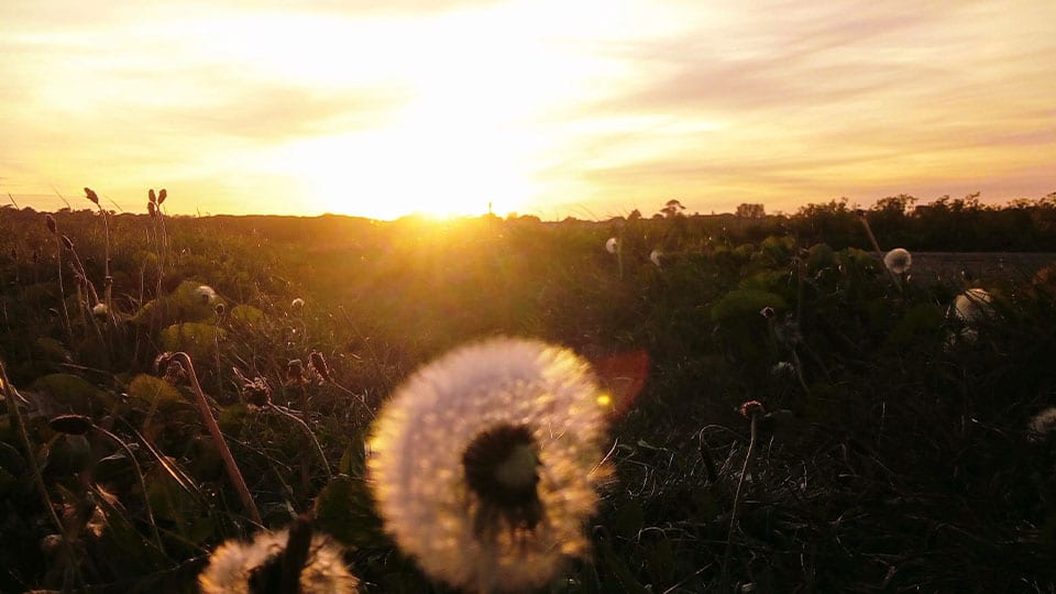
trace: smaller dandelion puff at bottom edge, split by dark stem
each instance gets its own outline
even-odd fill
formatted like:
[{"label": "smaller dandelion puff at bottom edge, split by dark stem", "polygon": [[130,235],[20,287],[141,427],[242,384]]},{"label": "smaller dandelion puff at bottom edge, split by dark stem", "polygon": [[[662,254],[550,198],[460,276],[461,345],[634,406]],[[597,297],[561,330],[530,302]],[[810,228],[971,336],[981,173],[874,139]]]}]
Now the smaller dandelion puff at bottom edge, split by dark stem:
[{"label": "smaller dandelion puff at bottom edge, split by dark stem", "polygon": [[[277,560],[288,541],[289,530],[261,532],[250,542],[229,540],[212,552],[209,566],[198,575],[198,586],[202,594],[255,592],[250,582]],[[340,549],[318,534],[311,537],[299,582],[305,594],[349,594],[359,590],[359,580],[349,572]]]}]

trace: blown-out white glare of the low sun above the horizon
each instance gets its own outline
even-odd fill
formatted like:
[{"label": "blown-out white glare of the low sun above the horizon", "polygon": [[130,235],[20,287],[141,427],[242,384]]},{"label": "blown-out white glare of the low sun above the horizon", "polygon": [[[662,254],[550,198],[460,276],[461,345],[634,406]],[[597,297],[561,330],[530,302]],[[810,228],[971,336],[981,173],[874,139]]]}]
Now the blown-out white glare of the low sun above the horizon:
[{"label": "blown-out white glare of the low sun above the horizon", "polygon": [[268,173],[293,179],[317,212],[524,212],[547,190],[541,172],[553,154],[540,119],[562,105],[583,65],[534,37],[522,16],[504,14],[510,22],[497,28],[495,13],[455,13],[407,31],[416,43],[388,45],[366,66],[371,82],[404,89],[405,101],[386,106],[384,121],[284,143],[264,160]]}]

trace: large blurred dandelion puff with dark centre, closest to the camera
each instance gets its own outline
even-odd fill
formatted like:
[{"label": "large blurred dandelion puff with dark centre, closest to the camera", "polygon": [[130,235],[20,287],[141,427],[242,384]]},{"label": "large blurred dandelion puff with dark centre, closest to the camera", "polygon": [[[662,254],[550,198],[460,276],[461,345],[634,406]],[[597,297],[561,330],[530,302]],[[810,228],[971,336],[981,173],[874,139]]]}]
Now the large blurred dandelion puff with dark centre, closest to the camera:
[{"label": "large blurred dandelion puff with dark centre, closest to the camera", "polygon": [[538,341],[492,339],[419,370],[369,443],[386,530],[451,585],[546,584],[587,549],[606,402],[582,359]]}]

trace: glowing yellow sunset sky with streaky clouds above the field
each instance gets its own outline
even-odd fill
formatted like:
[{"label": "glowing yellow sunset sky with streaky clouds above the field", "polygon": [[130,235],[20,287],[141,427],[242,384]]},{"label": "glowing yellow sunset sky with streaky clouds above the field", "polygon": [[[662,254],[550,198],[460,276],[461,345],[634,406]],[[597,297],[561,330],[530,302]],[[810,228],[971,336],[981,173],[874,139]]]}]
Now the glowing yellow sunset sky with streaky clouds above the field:
[{"label": "glowing yellow sunset sky with streaky clouds above the field", "polygon": [[1053,0],[3,0],[0,196],[793,212],[1056,191]]}]

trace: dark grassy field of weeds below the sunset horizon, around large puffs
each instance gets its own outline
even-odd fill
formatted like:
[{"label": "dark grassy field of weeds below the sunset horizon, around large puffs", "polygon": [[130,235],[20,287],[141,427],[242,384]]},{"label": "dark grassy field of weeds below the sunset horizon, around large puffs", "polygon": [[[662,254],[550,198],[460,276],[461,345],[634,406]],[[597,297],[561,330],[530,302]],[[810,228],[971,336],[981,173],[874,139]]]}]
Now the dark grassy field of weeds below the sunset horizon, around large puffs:
[{"label": "dark grassy field of weeds below the sunset horizon, around large puffs", "polygon": [[[911,205],[2,209],[0,591],[193,592],[217,544],[306,512],[362,590],[444,591],[381,530],[364,435],[417,366],[509,334],[574,349],[624,399],[593,554],[549,591],[1056,592],[1056,436],[1030,428],[1056,406],[1054,258],[892,274],[862,222],[884,249],[1056,252],[1056,196]],[[972,287],[992,300],[955,315]]]}]

